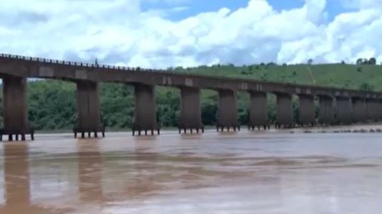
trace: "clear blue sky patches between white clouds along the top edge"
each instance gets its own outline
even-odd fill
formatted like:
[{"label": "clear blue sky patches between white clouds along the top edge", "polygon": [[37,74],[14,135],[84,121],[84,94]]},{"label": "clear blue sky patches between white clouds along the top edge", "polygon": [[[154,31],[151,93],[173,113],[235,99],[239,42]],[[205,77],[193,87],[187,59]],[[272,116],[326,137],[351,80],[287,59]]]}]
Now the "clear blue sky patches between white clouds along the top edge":
[{"label": "clear blue sky patches between white clouds along the top edge", "polygon": [[[212,12],[220,8],[229,8],[230,10],[237,10],[244,8],[248,5],[249,0],[178,0],[178,1],[158,1],[148,0],[142,3],[143,10],[150,10],[153,8],[169,9],[174,7],[184,7],[186,9],[179,12],[172,12],[168,14],[168,18],[172,20],[184,19],[197,15],[200,12]],[[345,0],[346,1],[346,0]],[[348,0],[351,1],[351,0]],[[328,14],[328,20],[333,20],[336,15],[342,12],[355,11],[355,8],[349,8],[342,3],[344,0],[328,0],[325,8]],[[292,8],[300,8],[304,6],[304,0],[268,0],[268,3],[278,11],[290,10]]]}]

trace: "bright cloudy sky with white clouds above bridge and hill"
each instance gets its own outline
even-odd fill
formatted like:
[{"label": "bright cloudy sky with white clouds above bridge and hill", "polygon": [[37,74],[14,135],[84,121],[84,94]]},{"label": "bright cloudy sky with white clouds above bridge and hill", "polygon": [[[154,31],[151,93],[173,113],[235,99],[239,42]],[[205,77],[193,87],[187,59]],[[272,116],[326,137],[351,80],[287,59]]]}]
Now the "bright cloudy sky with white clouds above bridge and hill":
[{"label": "bright cloudy sky with white clouds above bridge and hill", "polygon": [[382,62],[382,0],[0,1],[0,52],[150,68]]}]

